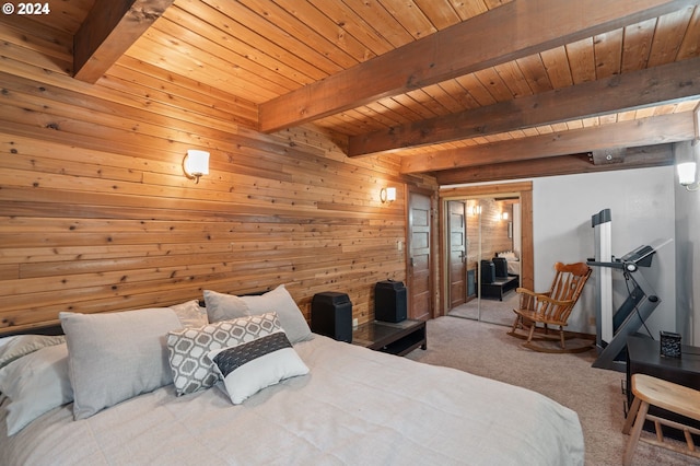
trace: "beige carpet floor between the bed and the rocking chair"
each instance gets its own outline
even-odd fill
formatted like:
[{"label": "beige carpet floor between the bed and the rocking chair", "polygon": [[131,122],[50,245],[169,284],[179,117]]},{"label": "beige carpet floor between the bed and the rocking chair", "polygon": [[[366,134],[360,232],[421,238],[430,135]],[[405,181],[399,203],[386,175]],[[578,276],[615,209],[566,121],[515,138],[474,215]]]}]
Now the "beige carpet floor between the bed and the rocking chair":
[{"label": "beige carpet floor between the bed and the rocking chair", "polygon": [[[539,392],[578,412],[586,465],[621,464],[628,440],[621,433],[625,374],[593,368],[594,350],[579,354],[535,352],[523,348],[522,340],[506,335],[508,330],[504,326],[466,318],[439,317],[428,322],[428,350],[415,350],[407,358]],[[680,466],[699,465],[700,461],[640,442],[633,464]]]}]

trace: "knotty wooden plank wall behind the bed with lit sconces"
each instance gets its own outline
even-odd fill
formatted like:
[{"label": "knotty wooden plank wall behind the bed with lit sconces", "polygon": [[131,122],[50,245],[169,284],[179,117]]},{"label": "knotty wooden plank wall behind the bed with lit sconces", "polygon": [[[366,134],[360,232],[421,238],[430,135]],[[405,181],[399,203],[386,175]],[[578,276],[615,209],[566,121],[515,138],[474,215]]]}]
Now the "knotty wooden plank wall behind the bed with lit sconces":
[{"label": "knotty wooden plank wall behind the bed with lit sconces", "polygon": [[[406,279],[402,186],[434,179],[313,127],[260,135],[254,104],[128,57],[75,81],[69,37],[22,24],[0,25],[0,333],[279,283],[307,317],[347,292],[362,323],[373,284]],[[199,184],[187,149],[211,153]]]}]

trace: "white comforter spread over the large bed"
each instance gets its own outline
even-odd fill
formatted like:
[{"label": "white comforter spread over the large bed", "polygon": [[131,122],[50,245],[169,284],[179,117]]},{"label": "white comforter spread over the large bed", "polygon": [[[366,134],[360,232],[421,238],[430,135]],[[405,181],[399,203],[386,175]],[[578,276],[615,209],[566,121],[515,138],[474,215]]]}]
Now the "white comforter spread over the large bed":
[{"label": "white comforter spread over the large bed", "polygon": [[316,336],[311,369],[233,406],[172,385],[73,421],[57,408],[2,465],[583,465],[576,413],[537,393]]}]

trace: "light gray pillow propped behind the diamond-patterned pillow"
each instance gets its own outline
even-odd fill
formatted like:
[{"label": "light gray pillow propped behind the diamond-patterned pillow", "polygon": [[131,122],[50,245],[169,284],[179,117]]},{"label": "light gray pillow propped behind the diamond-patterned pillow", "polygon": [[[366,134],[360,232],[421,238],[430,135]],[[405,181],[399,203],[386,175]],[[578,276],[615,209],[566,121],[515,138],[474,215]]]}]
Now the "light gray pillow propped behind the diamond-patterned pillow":
[{"label": "light gray pillow propped behind the diamond-patterned pillow", "polygon": [[312,337],[304,315],[283,284],[259,296],[234,296],[205,290],[205,302],[211,323],[276,312],[292,345]]}]

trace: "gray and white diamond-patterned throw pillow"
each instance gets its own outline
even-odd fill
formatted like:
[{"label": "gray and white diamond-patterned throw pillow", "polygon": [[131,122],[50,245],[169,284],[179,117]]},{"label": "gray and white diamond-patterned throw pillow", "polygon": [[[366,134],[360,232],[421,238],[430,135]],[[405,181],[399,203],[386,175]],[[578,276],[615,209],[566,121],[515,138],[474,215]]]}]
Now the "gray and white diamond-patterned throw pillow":
[{"label": "gray and white diamond-patterned throw pillow", "polygon": [[212,387],[219,380],[207,358],[212,350],[252,341],[279,330],[276,313],[242,317],[167,334],[167,350],[177,395]]}]

